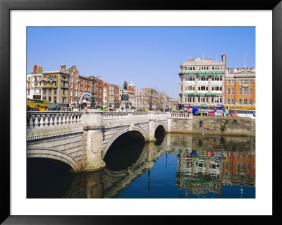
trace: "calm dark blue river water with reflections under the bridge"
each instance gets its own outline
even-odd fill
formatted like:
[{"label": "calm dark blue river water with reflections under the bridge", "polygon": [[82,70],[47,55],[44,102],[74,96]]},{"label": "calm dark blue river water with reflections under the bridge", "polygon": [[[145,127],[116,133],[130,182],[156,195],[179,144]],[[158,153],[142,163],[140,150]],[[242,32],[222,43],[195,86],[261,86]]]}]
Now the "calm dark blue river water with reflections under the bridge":
[{"label": "calm dark blue river water with reflections under the bridge", "polygon": [[27,159],[27,198],[255,198],[255,138],[166,133],[116,140],[106,168]]}]

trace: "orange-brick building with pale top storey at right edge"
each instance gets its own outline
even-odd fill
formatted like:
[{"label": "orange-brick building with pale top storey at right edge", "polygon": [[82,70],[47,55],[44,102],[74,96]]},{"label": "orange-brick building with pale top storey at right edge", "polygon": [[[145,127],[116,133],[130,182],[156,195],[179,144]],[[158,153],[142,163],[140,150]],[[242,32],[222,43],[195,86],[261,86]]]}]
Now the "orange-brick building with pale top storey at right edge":
[{"label": "orange-brick building with pale top storey at right edge", "polygon": [[226,68],[225,102],[230,109],[255,109],[255,68]]}]

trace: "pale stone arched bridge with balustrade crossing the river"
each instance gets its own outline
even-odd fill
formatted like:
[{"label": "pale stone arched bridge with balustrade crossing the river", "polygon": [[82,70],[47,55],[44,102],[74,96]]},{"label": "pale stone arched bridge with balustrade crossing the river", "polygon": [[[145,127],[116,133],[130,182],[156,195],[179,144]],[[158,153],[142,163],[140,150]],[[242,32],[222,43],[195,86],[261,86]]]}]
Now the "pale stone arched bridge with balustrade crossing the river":
[{"label": "pale stone arched bridge with balustrade crossing the river", "polygon": [[170,113],[88,111],[27,111],[27,158],[57,159],[74,171],[105,166],[111,144],[124,133],[152,142],[161,129],[171,132]]}]

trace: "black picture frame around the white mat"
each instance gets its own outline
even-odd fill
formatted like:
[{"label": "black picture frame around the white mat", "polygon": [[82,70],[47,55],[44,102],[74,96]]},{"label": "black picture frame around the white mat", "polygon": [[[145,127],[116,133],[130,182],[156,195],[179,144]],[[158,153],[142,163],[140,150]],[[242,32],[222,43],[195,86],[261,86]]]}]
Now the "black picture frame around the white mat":
[{"label": "black picture frame around the white mat", "polygon": [[[272,82],[272,153],[273,153],[273,214],[272,216],[16,216],[10,214],[10,13],[11,10],[271,10],[273,15],[273,82]],[[281,125],[281,77],[282,77],[282,2],[276,1],[114,1],[114,0],[0,0],[1,27],[1,58],[0,58],[0,92],[1,92],[1,218],[3,224],[145,224],[148,221],[160,224],[176,223],[178,220],[197,222],[233,222],[250,224],[251,222],[262,222],[278,224],[281,223],[280,210],[281,195],[278,193],[278,181],[281,169],[278,167],[278,128]],[[13,104],[13,103],[12,103]],[[269,160],[269,159],[267,159]],[[177,206],[176,206],[177,207]],[[228,207],[228,206],[227,206]],[[228,217],[228,218],[225,218]],[[200,219],[200,220],[199,220]],[[216,219],[216,220],[215,220]],[[228,219],[228,220],[226,220]]]}]

